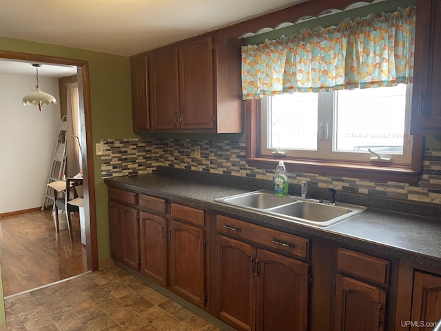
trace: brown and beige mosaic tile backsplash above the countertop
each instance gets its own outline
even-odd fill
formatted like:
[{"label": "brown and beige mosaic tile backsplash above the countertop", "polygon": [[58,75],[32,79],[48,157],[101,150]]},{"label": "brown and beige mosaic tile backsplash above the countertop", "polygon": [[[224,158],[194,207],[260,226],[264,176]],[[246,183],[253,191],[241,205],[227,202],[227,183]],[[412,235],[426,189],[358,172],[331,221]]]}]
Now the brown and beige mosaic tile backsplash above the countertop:
[{"label": "brown and beige mosaic tile backsplash above the countertop", "polygon": [[[154,172],[158,165],[216,174],[244,176],[271,181],[274,171],[250,168],[245,162],[245,143],[191,139],[108,139],[102,140],[102,177],[130,176]],[[201,146],[195,159],[194,147]],[[441,203],[441,149],[424,151],[424,171],[416,184],[369,181],[347,177],[289,173],[289,182],[308,181],[318,188],[371,194],[428,203]]]}]

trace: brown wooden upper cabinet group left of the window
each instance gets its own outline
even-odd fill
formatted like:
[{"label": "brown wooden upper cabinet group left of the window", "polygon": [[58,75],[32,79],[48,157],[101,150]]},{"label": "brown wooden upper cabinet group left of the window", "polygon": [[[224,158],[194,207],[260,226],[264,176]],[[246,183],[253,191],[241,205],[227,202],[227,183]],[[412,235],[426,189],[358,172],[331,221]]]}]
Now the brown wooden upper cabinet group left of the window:
[{"label": "brown wooden upper cabinet group left of the window", "polygon": [[[152,50],[148,74],[141,55],[132,57],[134,132],[243,132],[240,42],[214,34]],[[141,114],[150,115],[149,129],[135,124]]]}]

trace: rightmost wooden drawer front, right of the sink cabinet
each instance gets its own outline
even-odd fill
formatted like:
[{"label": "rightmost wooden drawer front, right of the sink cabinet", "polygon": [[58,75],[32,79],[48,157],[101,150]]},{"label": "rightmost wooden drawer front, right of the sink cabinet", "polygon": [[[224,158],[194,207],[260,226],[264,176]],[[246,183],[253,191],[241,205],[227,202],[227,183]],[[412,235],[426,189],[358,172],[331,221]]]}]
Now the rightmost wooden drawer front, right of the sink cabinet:
[{"label": "rightmost wooden drawer front, right of the sink cabinet", "polygon": [[338,248],[337,269],[367,281],[389,285],[391,262],[345,248]]}]

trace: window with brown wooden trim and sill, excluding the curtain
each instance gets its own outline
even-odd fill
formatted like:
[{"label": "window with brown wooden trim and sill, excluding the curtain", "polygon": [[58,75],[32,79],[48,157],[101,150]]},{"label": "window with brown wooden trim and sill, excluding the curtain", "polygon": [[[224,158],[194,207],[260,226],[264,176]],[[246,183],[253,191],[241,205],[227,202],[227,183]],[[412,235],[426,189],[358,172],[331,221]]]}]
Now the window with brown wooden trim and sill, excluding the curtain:
[{"label": "window with brown wooden trim and sill, excluding the curtain", "polygon": [[[247,101],[247,164],[328,177],[415,183],[423,137],[409,134],[411,84]],[[375,162],[367,149],[389,162]],[[283,154],[282,154],[283,153]]]}]

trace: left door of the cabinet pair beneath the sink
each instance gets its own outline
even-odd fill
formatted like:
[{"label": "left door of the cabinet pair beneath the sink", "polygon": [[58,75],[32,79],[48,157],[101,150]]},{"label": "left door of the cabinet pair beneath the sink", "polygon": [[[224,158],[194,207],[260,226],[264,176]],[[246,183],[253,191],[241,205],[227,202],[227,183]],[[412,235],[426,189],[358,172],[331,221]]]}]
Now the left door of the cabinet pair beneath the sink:
[{"label": "left door of the cabinet pair beneath the sink", "polygon": [[255,251],[247,243],[219,237],[219,318],[236,330],[256,329]]}]

